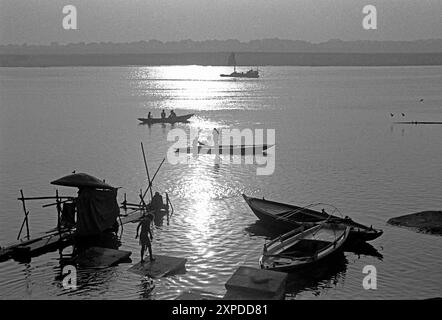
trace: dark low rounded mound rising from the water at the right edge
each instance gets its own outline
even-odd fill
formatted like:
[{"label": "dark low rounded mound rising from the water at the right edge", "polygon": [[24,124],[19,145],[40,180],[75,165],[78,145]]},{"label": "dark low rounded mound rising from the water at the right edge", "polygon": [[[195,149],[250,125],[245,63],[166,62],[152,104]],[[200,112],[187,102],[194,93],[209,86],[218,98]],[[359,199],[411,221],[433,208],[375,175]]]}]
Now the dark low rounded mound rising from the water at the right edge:
[{"label": "dark low rounded mound rising from the water at the right edge", "polygon": [[442,235],[442,211],[423,211],[391,218],[391,225],[417,229],[420,232]]}]

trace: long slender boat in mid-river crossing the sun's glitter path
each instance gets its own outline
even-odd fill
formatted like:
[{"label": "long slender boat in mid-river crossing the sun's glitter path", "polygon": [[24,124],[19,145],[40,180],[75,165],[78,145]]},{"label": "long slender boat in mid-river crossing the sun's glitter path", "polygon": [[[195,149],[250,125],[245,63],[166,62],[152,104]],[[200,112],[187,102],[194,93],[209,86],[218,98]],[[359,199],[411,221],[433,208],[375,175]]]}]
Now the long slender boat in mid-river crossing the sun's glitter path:
[{"label": "long slender boat in mid-river crossing the sun's glitter path", "polygon": [[[220,145],[218,146],[218,154],[227,155],[254,155],[264,153],[271,146],[267,144],[262,145]],[[195,148],[195,152],[198,154],[215,154],[216,148],[211,145],[199,145]],[[177,153],[193,153],[193,147],[184,147],[175,149]]]}]

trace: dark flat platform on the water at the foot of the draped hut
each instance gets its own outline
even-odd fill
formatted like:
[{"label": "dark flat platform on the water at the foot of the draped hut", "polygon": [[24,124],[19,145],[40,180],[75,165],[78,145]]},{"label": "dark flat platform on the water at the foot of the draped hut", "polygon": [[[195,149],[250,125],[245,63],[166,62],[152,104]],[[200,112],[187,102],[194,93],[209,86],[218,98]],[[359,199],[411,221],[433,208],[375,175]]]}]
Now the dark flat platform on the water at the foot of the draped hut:
[{"label": "dark flat platform on the water at the foot of the draped hut", "polygon": [[130,251],[91,247],[80,253],[74,262],[81,268],[106,268],[128,260]]}]

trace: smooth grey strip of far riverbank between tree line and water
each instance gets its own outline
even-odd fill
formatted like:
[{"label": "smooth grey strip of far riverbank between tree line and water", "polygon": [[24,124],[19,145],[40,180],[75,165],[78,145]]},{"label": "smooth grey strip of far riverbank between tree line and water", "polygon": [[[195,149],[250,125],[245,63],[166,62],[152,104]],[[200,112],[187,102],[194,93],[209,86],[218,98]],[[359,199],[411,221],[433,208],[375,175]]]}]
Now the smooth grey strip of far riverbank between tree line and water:
[{"label": "smooth grey strip of far riverbank between tree line and water", "polygon": [[[226,52],[149,54],[0,54],[0,67],[226,66]],[[437,66],[435,53],[241,52],[238,66]]]}]

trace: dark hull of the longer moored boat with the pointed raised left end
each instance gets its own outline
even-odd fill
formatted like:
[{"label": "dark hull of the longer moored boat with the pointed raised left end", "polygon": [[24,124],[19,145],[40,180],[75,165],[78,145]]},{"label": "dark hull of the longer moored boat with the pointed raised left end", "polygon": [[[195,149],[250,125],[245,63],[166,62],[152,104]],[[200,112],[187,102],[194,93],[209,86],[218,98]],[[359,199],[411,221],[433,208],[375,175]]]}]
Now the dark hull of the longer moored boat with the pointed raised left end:
[{"label": "dark hull of the longer moored boat with the pointed raised left end", "polygon": [[[256,217],[259,220],[275,228],[278,228],[278,230],[281,230],[281,232],[288,232],[290,230],[293,230],[294,228],[298,228],[301,225],[305,227],[310,227],[320,222],[323,222],[327,218],[329,218],[335,222],[350,227],[349,242],[372,241],[383,234],[382,230],[364,226],[362,224],[354,222],[351,219],[345,219],[336,216],[329,217],[327,214],[324,215],[321,212],[304,209],[290,204],[277,203],[274,201],[261,200],[257,198],[250,198],[244,194],[243,197],[244,200],[249,205],[250,209],[253,211],[253,213],[256,215]],[[278,216],[277,214],[269,212],[269,210],[265,210],[254,204],[253,202],[256,200],[268,202],[270,204],[281,205],[282,207],[290,208],[291,210],[304,211],[306,212],[306,214],[292,215],[289,217]]]}]

